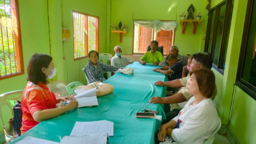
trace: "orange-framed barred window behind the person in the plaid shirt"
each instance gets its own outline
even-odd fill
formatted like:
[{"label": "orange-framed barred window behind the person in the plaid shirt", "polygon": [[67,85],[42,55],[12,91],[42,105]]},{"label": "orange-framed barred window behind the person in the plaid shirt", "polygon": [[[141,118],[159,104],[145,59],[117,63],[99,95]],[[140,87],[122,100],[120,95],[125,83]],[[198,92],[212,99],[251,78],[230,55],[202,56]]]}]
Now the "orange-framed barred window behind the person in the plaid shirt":
[{"label": "orange-framed barred window behind the person in the plaid shirt", "polygon": [[99,17],[73,12],[74,60],[86,58],[88,52],[99,51]]}]

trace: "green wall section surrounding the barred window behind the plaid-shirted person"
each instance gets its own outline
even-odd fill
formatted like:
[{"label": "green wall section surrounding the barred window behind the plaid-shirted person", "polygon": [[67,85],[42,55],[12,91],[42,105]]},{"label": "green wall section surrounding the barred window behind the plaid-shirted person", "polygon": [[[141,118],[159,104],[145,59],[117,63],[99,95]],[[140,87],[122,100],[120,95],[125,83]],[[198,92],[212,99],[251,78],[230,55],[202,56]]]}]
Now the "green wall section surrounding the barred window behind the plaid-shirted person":
[{"label": "green wall section surrounding the barred window behind the plaid-shirted person", "polygon": [[106,52],[106,24],[107,24],[107,1],[92,0],[62,0],[61,1],[62,26],[70,29],[71,37],[63,42],[63,76],[64,81],[71,83],[81,81],[85,83],[82,68],[88,62],[88,58],[74,61],[74,41],[73,41],[73,15],[72,11],[86,13],[99,17],[99,52]]}]

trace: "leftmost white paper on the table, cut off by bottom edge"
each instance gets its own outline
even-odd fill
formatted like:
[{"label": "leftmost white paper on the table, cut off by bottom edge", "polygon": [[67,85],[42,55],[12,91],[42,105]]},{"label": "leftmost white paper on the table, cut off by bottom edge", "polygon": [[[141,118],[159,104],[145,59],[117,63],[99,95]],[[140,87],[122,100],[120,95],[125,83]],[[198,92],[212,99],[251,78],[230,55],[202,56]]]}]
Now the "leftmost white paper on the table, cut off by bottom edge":
[{"label": "leftmost white paper on the table, cut off by bottom edge", "polygon": [[34,138],[32,136],[26,136],[26,138],[22,139],[21,141],[17,142],[16,144],[60,144],[55,141],[43,140],[40,138]]}]

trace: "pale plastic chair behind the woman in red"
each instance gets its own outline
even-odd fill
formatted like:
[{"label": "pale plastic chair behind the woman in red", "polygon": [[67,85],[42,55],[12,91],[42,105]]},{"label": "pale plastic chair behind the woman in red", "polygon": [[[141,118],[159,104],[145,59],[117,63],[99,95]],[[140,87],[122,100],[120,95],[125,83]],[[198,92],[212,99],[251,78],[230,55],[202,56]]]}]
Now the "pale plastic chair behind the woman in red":
[{"label": "pale plastic chair behind the woman in red", "polygon": [[[0,118],[2,125],[4,127],[4,120],[3,120],[3,108],[4,106],[7,106],[10,109],[10,113],[12,112],[12,104],[10,103],[10,100],[20,100],[22,97],[24,90],[15,90],[12,92],[6,92],[0,95]],[[6,114],[6,111],[4,111]],[[10,136],[5,135],[6,141],[9,141],[11,138]]]}]

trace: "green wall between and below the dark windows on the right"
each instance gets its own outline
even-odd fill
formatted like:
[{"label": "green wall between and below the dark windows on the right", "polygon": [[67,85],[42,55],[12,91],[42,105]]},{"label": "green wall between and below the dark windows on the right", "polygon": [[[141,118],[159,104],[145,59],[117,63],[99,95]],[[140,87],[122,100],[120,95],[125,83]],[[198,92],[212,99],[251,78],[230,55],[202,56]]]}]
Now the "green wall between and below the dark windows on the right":
[{"label": "green wall between and below the dark windows on the right", "polygon": [[[214,5],[221,1],[212,1]],[[222,124],[228,125],[239,143],[256,143],[255,118],[256,102],[243,92],[236,83],[236,72],[243,35],[247,1],[234,1],[232,24],[228,38],[228,50],[224,75],[216,70],[218,96],[214,99]],[[232,104],[232,99],[234,100]],[[231,113],[230,113],[231,111]]]}]

